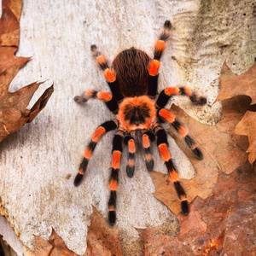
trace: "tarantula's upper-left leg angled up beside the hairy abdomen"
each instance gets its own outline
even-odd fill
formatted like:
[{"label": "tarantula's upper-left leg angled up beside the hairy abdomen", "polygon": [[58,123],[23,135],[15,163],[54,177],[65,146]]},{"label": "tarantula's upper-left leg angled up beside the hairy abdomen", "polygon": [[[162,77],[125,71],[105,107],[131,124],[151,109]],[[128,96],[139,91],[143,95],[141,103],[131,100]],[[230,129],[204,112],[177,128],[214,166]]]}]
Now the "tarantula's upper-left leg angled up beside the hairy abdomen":
[{"label": "tarantula's upper-left leg angled up beside the hairy abdomen", "polygon": [[95,44],[90,46],[90,50],[99,67],[101,67],[114,98],[119,102],[124,96],[120,94],[118,80],[115,74],[109,69],[105,56],[102,55]]}]

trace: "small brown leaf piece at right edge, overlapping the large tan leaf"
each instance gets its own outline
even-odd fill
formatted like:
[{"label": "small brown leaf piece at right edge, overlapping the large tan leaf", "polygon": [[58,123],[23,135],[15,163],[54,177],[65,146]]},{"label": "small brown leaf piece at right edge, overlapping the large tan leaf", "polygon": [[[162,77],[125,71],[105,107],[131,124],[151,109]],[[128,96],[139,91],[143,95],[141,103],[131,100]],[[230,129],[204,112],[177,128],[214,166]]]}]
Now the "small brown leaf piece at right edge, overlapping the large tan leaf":
[{"label": "small brown leaf piece at right edge, overlapping the large tan leaf", "polygon": [[249,140],[249,162],[253,165],[256,159],[256,113],[247,111],[241,121],[236,125],[235,134],[246,135]]}]

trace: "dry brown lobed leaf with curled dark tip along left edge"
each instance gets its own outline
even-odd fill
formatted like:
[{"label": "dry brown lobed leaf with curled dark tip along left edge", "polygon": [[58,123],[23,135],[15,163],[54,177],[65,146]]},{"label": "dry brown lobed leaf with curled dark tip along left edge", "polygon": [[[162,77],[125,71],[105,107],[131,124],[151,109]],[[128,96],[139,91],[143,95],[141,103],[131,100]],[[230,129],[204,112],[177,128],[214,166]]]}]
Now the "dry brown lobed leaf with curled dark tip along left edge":
[{"label": "dry brown lobed leaf with curled dark tip along left edge", "polygon": [[4,0],[0,20],[0,142],[9,134],[31,122],[45,107],[53,92],[51,85],[31,110],[26,109],[34,92],[42,83],[32,83],[15,92],[9,84],[30,58],[17,57],[19,46],[21,0]]}]

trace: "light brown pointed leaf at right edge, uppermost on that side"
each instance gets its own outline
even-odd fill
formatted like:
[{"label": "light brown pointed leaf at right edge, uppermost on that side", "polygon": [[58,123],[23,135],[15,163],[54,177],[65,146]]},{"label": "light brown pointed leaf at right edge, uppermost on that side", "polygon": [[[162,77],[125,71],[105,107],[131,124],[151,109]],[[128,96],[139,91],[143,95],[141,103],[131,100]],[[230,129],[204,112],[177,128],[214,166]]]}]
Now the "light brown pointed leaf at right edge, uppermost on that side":
[{"label": "light brown pointed leaf at right edge, uppermost on that side", "polygon": [[219,82],[221,90],[216,102],[244,95],[252,98],[251,104],[256,103],[256,62],[246,73],[242,73],[239,76],[232,73],[227,64],[224,63]]}]

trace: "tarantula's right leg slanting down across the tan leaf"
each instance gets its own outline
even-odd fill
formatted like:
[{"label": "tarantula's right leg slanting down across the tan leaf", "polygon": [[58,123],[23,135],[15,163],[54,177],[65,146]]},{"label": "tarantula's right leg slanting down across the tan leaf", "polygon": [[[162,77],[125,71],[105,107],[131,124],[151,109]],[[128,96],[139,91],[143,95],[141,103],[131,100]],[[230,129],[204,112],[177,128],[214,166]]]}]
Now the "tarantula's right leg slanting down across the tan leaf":
[{"label": "tarantula's right leg slanting down across the tan leaf", "polygon": [[161,108],[158,111],[158,115],[161,119],[164,119],[166,123],[174,127],[177,133],[183,137],[185,143],[192,150],[193,154],[195,154],[198,159],[202,160],[203,154],[201,153],[201,150],[196,147],[194,139],[189,136],[189,131],[177,120],[176,115],[166,108]]}]

